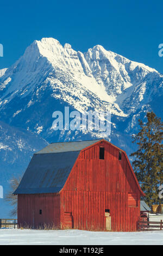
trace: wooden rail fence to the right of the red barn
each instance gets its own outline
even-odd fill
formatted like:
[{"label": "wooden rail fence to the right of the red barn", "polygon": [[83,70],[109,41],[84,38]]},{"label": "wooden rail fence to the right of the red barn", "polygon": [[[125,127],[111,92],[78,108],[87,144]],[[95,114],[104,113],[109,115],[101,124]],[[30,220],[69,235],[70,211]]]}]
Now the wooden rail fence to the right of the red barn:
[{"label": "wooden rail fence to the right of the red barn", "polygon": [[138,223],[139,231],[153,231],[153,230],[163,230],[163,222],[161,221],[139,221]]}]

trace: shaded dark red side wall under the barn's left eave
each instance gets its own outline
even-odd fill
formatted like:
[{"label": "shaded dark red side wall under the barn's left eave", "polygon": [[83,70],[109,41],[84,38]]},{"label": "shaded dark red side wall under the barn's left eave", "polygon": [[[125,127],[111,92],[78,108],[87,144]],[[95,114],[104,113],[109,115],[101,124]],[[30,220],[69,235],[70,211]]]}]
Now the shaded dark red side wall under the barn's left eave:
[{"label": "shaded dark red side wall under the barn's left eave", "polygon": [[17,210],[19,227],[43,228],[46,223],[60,228],[59,194],[18,194]]}]

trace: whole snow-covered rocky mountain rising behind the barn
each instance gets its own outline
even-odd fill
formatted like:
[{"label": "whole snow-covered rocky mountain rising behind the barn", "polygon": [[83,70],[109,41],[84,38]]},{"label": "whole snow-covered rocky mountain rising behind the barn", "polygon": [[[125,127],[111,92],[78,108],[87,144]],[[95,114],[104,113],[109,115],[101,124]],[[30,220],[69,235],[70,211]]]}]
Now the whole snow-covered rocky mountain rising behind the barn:
[{"label": "whole snow-covered rocky mountain rising behind the barn", "polygon": [[54,131],[52,113],[64,113],[65,106],[80,113],[109,109],[108,139],[129,154],[138,119],[151,109],[162,118],[162,96],[163,75],[100,45],[82,53],[53,38],[34,41],[16,63],[0,70],[0,177],[6,173],[7,182],[13,172],[21,173],[34,150],[47,143],[102,137]]}]

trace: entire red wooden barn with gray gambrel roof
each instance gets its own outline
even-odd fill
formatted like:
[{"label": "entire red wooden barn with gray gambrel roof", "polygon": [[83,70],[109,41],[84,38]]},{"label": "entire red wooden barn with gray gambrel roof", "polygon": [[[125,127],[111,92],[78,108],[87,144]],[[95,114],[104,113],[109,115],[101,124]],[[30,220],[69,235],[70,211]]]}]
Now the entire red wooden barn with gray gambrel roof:
[{"label": "entire red wooden barn with gray gambrel roof", "polygon": [[126,153],[108,141],[52,143],[14,192],[18,225],[136,231],[145,196]]}]

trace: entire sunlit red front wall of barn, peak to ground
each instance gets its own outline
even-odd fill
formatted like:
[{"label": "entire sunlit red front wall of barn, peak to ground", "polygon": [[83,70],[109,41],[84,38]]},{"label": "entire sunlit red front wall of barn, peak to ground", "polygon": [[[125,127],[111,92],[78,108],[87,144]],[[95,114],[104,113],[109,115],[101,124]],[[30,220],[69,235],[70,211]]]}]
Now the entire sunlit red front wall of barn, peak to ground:
[{"label": "entire sunlit red front wall of barn, peak to ground", "polygon": [[[99,147],[105,159],[99,160]],[[72,212],[74,228],[105,230],[105,209],[110,209],[113,231],[135,231],[140,216],[140,190],[124,153],[103,142],[80,153],[61,191],[61,222]],[[128,193],[136,193],[137,206],[128,206]]]}]

